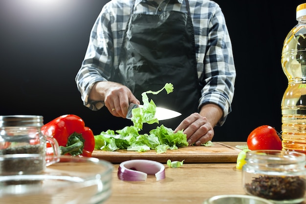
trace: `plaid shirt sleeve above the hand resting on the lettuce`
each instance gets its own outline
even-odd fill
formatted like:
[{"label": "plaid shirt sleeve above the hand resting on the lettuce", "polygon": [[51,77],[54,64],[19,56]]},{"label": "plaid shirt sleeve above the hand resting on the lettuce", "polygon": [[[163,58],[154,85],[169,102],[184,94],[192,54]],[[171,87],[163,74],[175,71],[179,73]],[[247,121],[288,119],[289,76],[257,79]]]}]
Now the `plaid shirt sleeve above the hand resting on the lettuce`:
[{"label": "plaid shirt sleeve above the hand resting on the lettuce", "polygon": [[203,86],[199,108],[207,103],[219,105],[223,110],[223,117],[217,125],[221,126],[232,110],[236,69],[230,36],[219,6],[216,7],[207,33],[204,34],[207,35],[207,46],[203,61],[204,71],[199,77]]}]

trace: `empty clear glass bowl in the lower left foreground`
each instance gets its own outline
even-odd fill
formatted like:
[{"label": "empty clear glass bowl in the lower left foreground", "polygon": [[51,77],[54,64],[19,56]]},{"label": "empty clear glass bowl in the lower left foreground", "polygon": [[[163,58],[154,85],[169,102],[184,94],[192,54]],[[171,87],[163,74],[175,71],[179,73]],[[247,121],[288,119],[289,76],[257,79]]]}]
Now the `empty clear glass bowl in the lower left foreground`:
[{"label": "empty clear glass bowl in the lower left foreground", "polygon": [[61,156],[43,173],[0,176],[0,204],[102,204],[112,169],[101,159]]}]

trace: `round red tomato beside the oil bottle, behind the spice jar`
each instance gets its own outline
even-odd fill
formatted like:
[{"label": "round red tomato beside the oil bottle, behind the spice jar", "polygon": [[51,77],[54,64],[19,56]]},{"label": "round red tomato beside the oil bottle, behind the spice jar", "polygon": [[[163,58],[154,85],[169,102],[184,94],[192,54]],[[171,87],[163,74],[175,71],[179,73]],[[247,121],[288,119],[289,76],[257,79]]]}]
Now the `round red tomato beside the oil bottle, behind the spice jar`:
[{"label": "round red tomato beside the oil bottle, behind the spice jar", "polygon": [[247,137],[250,150],[282,150],[282,140],[276,130],[269,125],[255,128]]}]

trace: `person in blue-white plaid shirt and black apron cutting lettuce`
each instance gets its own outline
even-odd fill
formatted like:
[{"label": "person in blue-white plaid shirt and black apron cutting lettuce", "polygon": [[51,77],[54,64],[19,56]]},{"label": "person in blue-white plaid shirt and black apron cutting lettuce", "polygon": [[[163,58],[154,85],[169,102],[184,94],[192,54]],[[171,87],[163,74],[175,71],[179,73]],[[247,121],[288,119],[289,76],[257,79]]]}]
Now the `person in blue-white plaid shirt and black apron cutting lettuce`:
[{"label": "person in blue-white plaid shirt and black apron cutting lettuce", "polygon": [[182,115],[158,125],[183,130],[189,145],[201,145],[231,112],[235,78],[232,44],[216,2],[110,0],[93,25],[75,81],[85,106],[106,106],[123,118],[130,103],[141,103],[142,92],[172,83],[172,93],[149,97]]}]

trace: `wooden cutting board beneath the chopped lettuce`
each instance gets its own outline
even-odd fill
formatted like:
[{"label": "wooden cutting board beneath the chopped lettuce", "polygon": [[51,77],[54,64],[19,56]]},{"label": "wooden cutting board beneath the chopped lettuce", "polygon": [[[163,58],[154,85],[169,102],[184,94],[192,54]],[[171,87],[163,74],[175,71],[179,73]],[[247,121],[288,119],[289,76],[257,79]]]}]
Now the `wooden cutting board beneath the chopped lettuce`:
[{"label": "wooden cutting board beneath the chopped lettuce", "polygon": [[189,146],[181,147],[177,150],[167,150],[165,153],[157,154],[155,150],[147,152],[135,152],[126,150],[117,150],[114,152],[94,150],[92,157],[107,160],[111,163],[120,163],[131,159],[149,159],[161,163],[167,163],[168,159],[172,161],[181,161],[184,163],[236,163],[237,156],[241,151],[238,148],[213,142],[213,146]]}]

